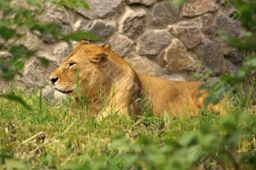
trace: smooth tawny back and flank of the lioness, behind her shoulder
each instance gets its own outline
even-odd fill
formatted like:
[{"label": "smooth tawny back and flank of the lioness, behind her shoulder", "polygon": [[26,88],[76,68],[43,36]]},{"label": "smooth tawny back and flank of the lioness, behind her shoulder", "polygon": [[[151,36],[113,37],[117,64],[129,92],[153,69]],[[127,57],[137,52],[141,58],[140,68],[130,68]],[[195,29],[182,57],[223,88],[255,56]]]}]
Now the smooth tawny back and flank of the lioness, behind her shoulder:
[{"label": "smooth tawny back and flank of the lioness, behind her shoulder", "polygon": [[152,101],[156,115],[172,112],[174,115],[184,111],[198,111],[195,94],[200,81],[170,81],[163,78],[140,75],[144,92]]}]

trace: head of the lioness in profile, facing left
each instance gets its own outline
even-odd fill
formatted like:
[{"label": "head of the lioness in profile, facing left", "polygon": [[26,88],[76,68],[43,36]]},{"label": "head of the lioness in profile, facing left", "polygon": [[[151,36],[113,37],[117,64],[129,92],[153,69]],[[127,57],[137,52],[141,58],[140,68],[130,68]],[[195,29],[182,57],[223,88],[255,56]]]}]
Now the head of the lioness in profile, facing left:
[{"label": "head of the lioness in profile, facing left", "polygon": [[100,68],[106,60],[111,45],[92,45],[86,41],[78,43],[74,50],[62,61],[62,64],[50,80],[56,90],[63,94],[84,96],[103,83],[106,73]]}]

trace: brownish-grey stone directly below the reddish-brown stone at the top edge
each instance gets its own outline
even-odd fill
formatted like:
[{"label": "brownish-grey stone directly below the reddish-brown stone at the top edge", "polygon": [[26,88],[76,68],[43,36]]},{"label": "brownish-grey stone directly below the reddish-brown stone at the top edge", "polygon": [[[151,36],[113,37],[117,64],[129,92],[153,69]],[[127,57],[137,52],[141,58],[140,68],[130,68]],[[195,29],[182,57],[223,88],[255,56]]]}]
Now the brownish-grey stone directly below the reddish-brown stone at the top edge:
[{"label": "brownish-grey stone directly below the reddish-brown stone at the top edge", "polygon": [[196,24],[184,22],[173,27],[175,34],[189,49],[202,43],[202,35]]}]

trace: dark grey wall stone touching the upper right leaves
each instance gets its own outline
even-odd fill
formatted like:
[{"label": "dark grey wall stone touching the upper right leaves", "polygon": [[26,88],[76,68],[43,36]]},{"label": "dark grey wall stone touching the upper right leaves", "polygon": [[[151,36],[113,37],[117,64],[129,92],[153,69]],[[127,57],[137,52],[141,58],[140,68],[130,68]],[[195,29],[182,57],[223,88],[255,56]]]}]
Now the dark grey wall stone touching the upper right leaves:
[{"label": "dark grey wall stone touching the upper right leaves", "polygon": [[223,13],[218,13],[216,15],[216,29],[225,29],[230,32],[233,36],[239,36],[241,25],[239,21],[234,22],[230,20],[227,16],[223,15]]}]

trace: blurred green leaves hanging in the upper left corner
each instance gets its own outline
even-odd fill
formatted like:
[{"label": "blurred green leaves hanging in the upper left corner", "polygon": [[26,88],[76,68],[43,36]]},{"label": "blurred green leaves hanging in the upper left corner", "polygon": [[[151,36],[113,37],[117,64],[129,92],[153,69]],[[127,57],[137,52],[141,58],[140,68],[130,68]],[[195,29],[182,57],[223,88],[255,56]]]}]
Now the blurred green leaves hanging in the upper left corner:
[{"label": "blurred green leaves hanging in the upper left corner", "polygon": [[[51,35],[56,41],[63,39],[71,45],[71,41],[81,41],[81,39],[99,40],[97,36],[89,32],[72,32],[63,34],[61,25],[57,23],[42,23],[39,18],[44,15],[44,6],[48,3],[57,5],[60,8],[85,8],[89,9],[88,3],[84,1],[0,1],[0,52],[9,52],[0,58],[0,78],[12,81],[16,74],[22,76],[22,71],[26,60],[36,57],[44,66],[49,65],[49,61],[40,56],[35,56],[35,52],[28,50],[26,46],[19,45],[27,32],[40,32],[42,35]],[[10,96],[9,96],[10,98]],[[11,98],[10,98],[11,99]],[[13,96],[16,99],[16,96]],[[19,101],[19,100],[17,100]],[[24,102],[20,102],[24,104]],[[26,105],[24,105],[26,106]]]}]

